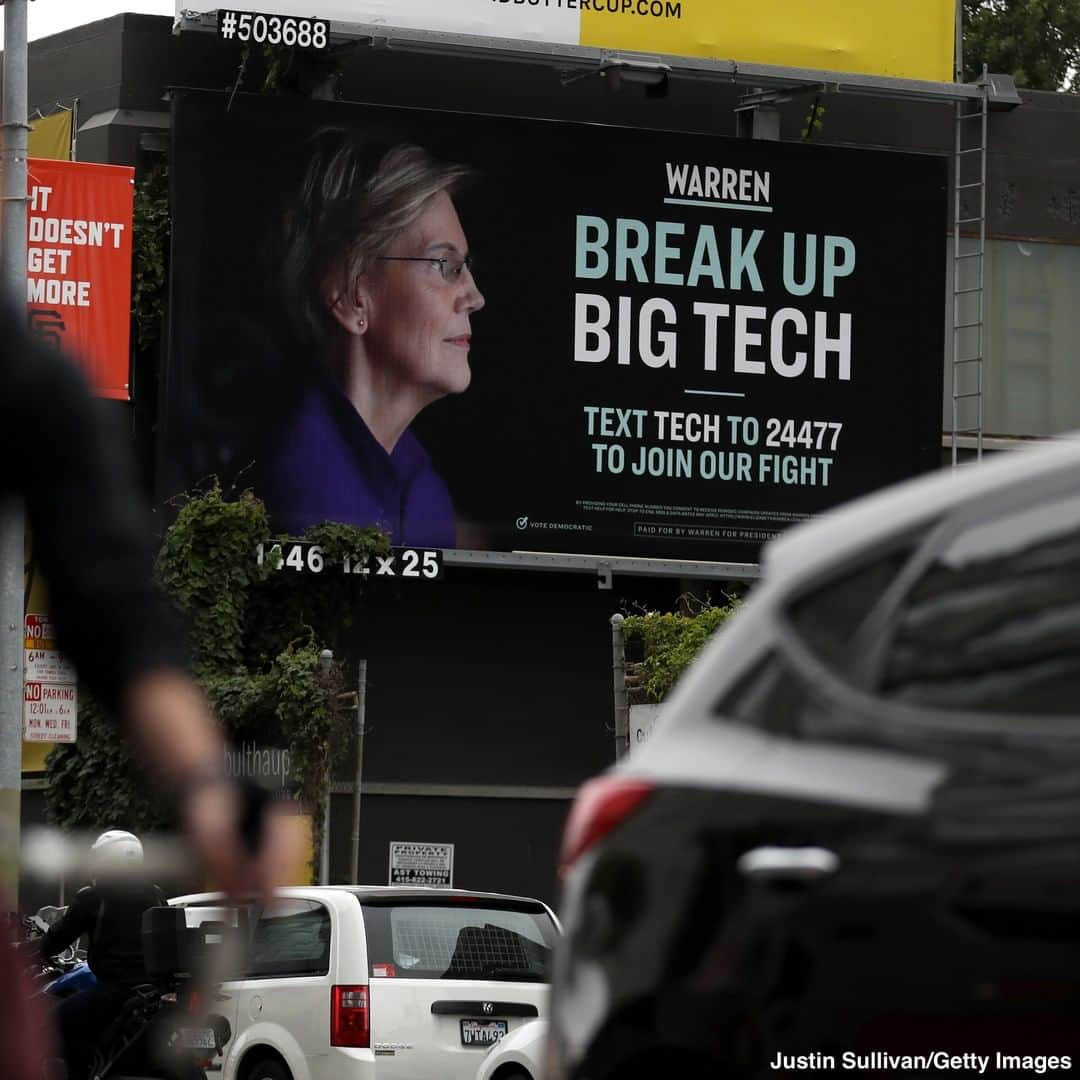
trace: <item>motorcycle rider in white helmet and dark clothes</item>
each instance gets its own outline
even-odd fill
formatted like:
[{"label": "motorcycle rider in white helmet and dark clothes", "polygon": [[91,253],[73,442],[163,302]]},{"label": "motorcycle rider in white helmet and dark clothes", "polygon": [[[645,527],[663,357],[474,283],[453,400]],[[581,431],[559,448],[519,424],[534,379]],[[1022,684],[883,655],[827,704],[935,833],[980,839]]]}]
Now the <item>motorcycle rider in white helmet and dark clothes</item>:
[{"label": "motorcycle rider in white helmet and dark clothes", "polygon": [[40,954],[49,958],[86,934],[86,962],[97,980],[56,1012],[69,1080],[83,1080],[98,1037],[119,1015],[132,988],[147,981],[143,913],[164,904],[165,897],[141,876],[141,863],[137,836],[119,828],[103,833],[91,846],[93,883],[76,893],[63,918],[41,939]]}]

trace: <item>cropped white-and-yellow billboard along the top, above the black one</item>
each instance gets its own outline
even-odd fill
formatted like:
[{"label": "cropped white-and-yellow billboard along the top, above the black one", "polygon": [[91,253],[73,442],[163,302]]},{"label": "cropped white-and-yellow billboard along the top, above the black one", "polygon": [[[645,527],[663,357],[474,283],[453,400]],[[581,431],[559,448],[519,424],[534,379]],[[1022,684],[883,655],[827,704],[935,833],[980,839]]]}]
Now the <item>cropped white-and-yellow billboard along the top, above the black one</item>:
[{"label": "cropped white-and-yellow billboard along the top, above the black one", "polygon": [[[224,37],[301,43],[283,16],[382,24],[676,56],[953,81],[957,0],[176,0],[176,14],[220,9]],[[241,21],[260,13],[278,23]],[[311,40],[308,38],[308,40]],[[321,31],[314,44],[325,48]]]}]

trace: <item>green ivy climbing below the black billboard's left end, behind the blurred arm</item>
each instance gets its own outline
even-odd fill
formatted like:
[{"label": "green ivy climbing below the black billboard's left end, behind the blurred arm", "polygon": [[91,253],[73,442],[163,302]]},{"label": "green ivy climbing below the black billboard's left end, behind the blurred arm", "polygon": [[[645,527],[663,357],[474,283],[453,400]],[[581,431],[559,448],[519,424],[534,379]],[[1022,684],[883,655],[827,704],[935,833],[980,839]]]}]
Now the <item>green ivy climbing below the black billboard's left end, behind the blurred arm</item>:
[{"label": "green ivy climbing below the black billboard's left end, behind the blurred arm", "polygon": [[[341,665],[323,671],[320,653],[340,651],[363,581],[333,567],[346,554],[383,553],[389,540],[376,529],[315,526],[303,539],[322,545],[326,569],[313,576],[259,565],[257,545],[273,539],[286,538],[271,536],[259,499],[251,491],[229,499],[215,483],[183,500],[158,575],[188,621],[193,671],[227,734],[287,747],[298,797],[321,822],[332,747],[348,742],[352,724]],[[161,826],[160,801],[141,788],[116,726],[83,700],[79,742],[57,747],[46,764],[50,815],[69,827]]]}]

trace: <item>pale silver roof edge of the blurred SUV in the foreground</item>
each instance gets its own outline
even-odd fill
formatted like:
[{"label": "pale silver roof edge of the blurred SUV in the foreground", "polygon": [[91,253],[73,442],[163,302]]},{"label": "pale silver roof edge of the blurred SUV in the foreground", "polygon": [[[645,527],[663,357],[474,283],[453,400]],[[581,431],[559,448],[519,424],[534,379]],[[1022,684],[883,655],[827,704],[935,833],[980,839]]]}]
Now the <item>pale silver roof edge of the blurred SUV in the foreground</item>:
[{"label": "pale silver roof edge of the blurred SUV in the foreground", "polygon": [[1062,473],[1076,475],[1080,492],[1077,470],[1080,433],[893,485],[797,525],[771,541],[762,554],[765,578],[782,588],[810,567],[822,570],[842,564],[878,542],[964,504],[1030,487]]}]

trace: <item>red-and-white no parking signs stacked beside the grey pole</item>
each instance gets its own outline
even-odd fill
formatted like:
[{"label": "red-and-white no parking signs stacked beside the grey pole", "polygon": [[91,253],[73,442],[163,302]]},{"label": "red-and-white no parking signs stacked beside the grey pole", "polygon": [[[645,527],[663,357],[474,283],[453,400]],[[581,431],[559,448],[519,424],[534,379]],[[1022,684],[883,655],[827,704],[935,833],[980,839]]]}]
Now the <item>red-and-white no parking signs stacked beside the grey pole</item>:
[{"label": "red-and-white no parking signs stacked beside the grey pole", "polygon": [[75,669],[56,649],[48,616],[27,613],[23,646],[23,738],[75,742],[79,688]]}]

